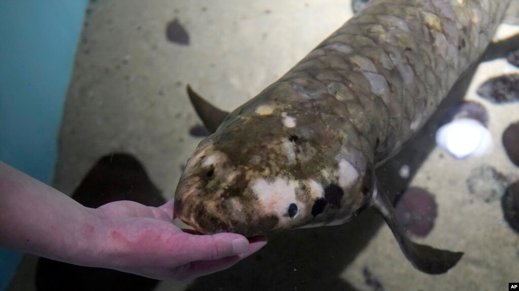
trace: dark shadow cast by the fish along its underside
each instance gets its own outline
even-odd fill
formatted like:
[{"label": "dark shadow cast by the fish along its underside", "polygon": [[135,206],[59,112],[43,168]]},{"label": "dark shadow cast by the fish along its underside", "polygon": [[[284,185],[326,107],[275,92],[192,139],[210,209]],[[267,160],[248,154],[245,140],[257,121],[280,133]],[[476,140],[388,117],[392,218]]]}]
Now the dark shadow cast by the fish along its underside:
[{"label": "dark shadow cast by the fish along its underside", "polygon": [[[469,69],[458,81],[439,109],[420,132],[404,144],[400,153],[377,168],[381,188],[391,199],[408,186],[436,147],[434,135],[442,115],[446,108],[463,99],[475,68]],[[403,165],[410,169],[407,179],[399,175]],[[262,250],[230,269],[196,279],[187,290],[357,290],[340,276],[381,226],[383,219],[367,209],[343,225],[272,234]],[[395,268],[400,263],[395,262]],[[365,284],[383,290],[383,282],[374,286],[369,273],[368,270],[363,272]]]}]

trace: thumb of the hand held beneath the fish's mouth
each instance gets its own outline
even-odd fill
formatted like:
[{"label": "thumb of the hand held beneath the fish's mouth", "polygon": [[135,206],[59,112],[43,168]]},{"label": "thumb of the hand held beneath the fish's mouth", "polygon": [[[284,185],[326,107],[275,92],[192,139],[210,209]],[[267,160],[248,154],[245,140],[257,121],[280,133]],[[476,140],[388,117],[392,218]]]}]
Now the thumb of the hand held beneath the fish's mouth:
[{"label": "thumb of the hand held beneath the fish's mouth", "polygon": [[215,260],[249,251],[249,240],[238,234],[191,236],[186,245],[191,261]]}]

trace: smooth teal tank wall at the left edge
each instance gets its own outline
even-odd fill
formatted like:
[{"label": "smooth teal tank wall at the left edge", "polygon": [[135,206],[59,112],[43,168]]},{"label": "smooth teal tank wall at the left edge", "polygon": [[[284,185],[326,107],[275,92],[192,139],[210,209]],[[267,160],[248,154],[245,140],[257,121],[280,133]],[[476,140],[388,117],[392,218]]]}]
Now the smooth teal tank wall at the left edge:
[{"label": "smooth teal tank wall at the left edge", "polygon": [[[86,4],[0,1],[0,160],[47,184]],[[0,249],[0,291],[21,257]]]}]

